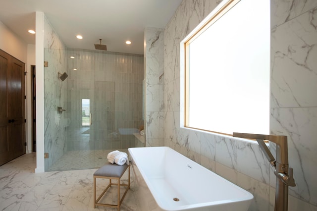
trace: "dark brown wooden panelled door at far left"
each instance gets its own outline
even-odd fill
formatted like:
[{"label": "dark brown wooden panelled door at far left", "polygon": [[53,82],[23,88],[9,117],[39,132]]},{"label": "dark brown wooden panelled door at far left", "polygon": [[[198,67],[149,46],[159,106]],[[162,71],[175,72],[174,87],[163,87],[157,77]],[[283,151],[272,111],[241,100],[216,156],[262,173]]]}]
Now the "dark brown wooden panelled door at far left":
[{"label": "dark brown wooden panelled door at far left", "polygon": [[0,165],[25,154],[24,63],[0,50]]}]

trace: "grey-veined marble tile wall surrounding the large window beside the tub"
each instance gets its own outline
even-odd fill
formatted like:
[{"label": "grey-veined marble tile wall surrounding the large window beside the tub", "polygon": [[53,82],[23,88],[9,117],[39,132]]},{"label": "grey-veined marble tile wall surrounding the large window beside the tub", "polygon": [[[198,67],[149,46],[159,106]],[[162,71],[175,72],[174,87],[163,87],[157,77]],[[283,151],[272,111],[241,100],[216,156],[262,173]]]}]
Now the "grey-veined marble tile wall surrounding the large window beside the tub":
[{"label": "grey-veined marble tile wall surrounding the large window beside the tub", "polygon": [[[250,210],[273,211],[275,177],[257,144],[180,126],[179,43],[219,2],[183,0],[164,29],[164,145],[249,190],[255,197]],[[289,140],[297,184],[289,191],[289,211],[317,211],[316,20],[316,0],[271,0],[270,127]]]}]

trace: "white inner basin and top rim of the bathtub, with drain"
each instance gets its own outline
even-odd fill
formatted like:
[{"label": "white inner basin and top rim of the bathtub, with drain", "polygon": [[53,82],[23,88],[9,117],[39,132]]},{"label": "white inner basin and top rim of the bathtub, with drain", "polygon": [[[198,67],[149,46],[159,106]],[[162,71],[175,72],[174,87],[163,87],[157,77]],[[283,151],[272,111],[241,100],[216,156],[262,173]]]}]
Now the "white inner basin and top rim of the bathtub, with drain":
[{"label": "white inner basin and top rim of the bathtub, with drain", "polygon": [[155,200],[166,209],[253,198],[249,192],[168,147],[132,148],[129,152]]}]

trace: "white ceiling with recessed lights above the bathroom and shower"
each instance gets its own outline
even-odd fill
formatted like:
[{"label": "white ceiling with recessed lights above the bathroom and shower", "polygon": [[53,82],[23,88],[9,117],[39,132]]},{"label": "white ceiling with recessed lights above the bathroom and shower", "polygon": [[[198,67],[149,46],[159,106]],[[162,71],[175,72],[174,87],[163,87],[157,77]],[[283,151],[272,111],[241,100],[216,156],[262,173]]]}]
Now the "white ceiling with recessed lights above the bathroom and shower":
[{"label": "white ceiling with recessed lights above the bathroom and shower", "polygon": [[[182,0],[0,0],[0,21],[35,44],[35,11],[42,11],[68,48],[143,54],[145,27],[164,28]],[[78,40],[75,36],[84,38]],[[130,40],[131,45],[125,41]]]}]

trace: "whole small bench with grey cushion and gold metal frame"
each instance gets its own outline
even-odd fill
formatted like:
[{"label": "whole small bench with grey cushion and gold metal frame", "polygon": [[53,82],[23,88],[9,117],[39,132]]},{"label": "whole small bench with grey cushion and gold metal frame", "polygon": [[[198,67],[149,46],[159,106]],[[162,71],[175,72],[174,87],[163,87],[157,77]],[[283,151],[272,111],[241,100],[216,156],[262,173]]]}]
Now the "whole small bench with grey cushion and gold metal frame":
[{"label": "whole small bench with grey cushion and gold metal frame", "polygon": [[[129,171],[128,184],[121,184],[120,179],[127,169]],[[96,200],[96,179],[97,178],[109,179],[109,184],[104,190],[104,192]],[[117,183],[112,183],[111,181],[112,179],[116,179]],[[118,187],[117,204],[112,205],[112,204],[99,203],[99,200],[105,195],[106,191],[109,189],[109,187],[111,187],[111,185],[116,185]],[[120,200],[120,186],[126,186],[126,190],[121,200]],[[94,173],[94,208],[96,208],[96,206],[105,206],[105,207],[117,208],[118,211],[120,211],[120,205],[129,189],[130,189],[130,165],[127,165],[127,164],[117,165],[117,164],[111,164],[107,162],[106,165],[100,167]]]}]

